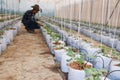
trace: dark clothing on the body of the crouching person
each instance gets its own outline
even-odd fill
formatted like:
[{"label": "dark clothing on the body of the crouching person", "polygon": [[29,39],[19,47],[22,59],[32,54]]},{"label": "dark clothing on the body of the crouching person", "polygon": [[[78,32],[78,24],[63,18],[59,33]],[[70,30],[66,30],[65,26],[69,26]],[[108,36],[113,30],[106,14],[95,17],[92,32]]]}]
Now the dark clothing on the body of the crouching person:
[{"label": "dark clothing on the body of the crouching person", "polygon": [[33,14],[32,10],[28,10],[25,12],[22,18],[22,23],[30,29],[39,28],[39,25],[35,19],[35,14]]}]

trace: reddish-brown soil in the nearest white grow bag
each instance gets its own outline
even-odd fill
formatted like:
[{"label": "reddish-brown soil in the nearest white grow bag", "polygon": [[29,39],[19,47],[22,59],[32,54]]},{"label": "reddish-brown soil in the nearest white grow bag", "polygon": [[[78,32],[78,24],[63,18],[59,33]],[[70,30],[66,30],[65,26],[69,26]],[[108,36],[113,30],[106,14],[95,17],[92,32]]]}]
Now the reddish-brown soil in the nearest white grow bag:
[{"label": "reddish-brown soil in the nearest white grow bag", "polygon": [[91,65],[88,65],[88,64],[86,64],[86,63],[83,63],[83,65],[82,65],[83,67],[81,67],[81,66],[78,64],[78,62],[76,62],[76,61],[70,63],[69,66],[70,66],[71,68],[77,69],[77,70],[84,70],[84,68],[91,68],[91,67],[92,67]]}]

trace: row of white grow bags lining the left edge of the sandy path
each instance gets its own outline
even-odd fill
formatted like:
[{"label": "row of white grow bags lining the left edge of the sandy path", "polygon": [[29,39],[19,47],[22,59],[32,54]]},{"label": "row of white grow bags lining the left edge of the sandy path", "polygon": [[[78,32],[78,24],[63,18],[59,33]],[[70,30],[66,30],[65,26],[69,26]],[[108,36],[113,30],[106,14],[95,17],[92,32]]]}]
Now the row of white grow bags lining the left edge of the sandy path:
[{"label": "row of white grow bags lining the left edge of the sandy path", "polygon": [[0,55],[6,50],[7,45],[11,44],[19,29],[19,18],[8,21],[3,26],[0,26]]}]

